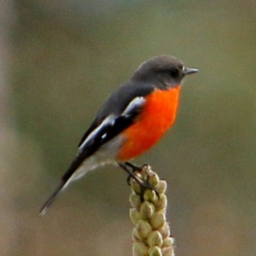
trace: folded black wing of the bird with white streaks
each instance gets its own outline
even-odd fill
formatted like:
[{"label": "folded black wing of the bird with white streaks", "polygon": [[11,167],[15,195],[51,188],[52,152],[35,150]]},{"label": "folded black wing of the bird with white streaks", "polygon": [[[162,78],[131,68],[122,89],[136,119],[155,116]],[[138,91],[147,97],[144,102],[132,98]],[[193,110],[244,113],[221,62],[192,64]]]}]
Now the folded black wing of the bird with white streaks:
[{"label": "folded black wing of the bird with white streaks", "polygon": [[141,112],[144,96],[154,90],[153,84],[128,82],[108,97],[90,128],[79,143],[79,154],[62,179],[68,179],[79,165],[102,144],[130,126]]}]

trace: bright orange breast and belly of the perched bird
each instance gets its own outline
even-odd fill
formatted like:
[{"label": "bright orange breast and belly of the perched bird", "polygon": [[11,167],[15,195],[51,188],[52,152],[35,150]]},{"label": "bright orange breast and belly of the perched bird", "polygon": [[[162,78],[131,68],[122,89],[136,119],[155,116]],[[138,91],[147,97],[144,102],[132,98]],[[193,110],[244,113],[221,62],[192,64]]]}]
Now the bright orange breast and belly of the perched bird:
[{"label": "bright orange breast and belly of the perched bird", "polygon": [[172,126],[177,112],[180,86],[169,90],[154,90],[146,97],[143,113],[123,135],[125,143],[117,160],[131,160],[154,146]]}]

